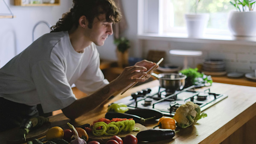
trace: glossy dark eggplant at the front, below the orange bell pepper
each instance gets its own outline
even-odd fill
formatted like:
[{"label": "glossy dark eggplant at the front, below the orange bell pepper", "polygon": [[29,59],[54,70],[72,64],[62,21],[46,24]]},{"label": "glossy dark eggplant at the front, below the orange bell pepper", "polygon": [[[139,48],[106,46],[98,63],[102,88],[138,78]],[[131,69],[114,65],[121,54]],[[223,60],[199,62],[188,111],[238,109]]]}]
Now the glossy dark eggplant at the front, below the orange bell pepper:
[{"label": "glossy dark eggplant at the front, below the orange bell pepper", "polygon": [[171,139],[175,136],[175,131],[170,129],[149,129],[140,131],[137,134],[138,142],[142,141],[162,141],[166,139]]}]

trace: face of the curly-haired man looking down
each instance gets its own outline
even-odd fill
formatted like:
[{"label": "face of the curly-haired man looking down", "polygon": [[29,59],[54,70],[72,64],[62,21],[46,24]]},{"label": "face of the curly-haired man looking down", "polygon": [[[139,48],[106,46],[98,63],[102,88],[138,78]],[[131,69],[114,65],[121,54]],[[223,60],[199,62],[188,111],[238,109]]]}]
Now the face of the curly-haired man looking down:
[{"label": "face of the curly-haired man looking down", "polygon": [[105,14],[100,14],[93,20],[92,29],[88,29],[89,40],[95,43],[97,46],[102,46],[108,35],[113,34],[112,24],[106,21]]}]

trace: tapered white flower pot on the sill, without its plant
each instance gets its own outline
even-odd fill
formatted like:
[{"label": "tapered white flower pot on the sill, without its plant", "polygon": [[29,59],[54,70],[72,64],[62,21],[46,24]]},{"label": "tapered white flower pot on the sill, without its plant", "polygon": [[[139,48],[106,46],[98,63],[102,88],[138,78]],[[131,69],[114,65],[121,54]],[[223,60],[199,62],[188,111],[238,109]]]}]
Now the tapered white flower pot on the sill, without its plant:
[{"label": "tapered white flower pot on the sill, without its plant", "polygon": [[188,37],[202,37],[209,20],[209,14],[185,14]]}]

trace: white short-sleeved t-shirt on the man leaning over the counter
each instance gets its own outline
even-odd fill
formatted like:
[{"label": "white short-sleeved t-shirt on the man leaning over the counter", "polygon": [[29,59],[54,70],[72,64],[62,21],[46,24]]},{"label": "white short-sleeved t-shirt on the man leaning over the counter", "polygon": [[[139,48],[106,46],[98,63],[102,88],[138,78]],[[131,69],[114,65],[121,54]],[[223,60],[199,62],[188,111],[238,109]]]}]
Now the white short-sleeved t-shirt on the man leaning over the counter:
[{"label": "white short-sleeved t-shirt on the man leaning over the counter", "polygon": [[68,32],[48,33],[0,69],[0,97],[41,104],[45,113],[63,109],[76,100],[72,84],[91,94],[109,83],[99,64],[94,43],[78,53]]}]

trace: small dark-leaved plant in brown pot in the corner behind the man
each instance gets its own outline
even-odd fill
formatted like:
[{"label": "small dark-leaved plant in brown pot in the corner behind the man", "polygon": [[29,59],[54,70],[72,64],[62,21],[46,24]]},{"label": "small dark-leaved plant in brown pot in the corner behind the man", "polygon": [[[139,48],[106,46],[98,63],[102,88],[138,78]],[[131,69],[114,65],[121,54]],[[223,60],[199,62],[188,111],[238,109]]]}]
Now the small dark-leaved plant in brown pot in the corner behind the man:
[{"label": "small dark-leaved plant in brown pot in the corner behind the man", "polygon": [[130,41],[125,37],[121,37],[115,39],[114,44],[116,44],[116,56],[118,66],[128,66],[128,49],[130,48]]}]

